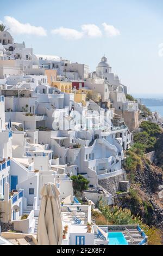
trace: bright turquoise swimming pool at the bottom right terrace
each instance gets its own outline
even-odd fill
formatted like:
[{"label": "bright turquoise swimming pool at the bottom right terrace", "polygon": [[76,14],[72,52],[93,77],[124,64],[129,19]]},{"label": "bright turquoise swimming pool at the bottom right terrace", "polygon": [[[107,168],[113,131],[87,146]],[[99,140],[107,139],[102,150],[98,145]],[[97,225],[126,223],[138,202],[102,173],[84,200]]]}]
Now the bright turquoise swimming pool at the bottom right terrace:
[{"label": "bright turquoise swimming pool at the bottom right terrace", "polygon": [[121,232],[109,232],[109,245],[128,245],[126,238]]}]

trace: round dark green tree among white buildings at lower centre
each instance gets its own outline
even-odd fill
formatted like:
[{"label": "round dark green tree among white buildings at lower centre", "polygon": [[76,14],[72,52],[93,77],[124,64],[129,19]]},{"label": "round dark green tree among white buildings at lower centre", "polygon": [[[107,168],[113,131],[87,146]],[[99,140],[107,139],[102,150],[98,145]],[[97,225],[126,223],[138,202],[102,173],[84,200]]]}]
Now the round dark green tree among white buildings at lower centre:
[{"label": "round dark green tree among white buildings at lower centre", "polygon": [[73,189],[75,195],[77,194],[77,192],[83,193],[84,190],[88,189],[87,185],[89,184],[89,181],[84,176],[73,175],[71,177],[71,180],[73,181]]}]

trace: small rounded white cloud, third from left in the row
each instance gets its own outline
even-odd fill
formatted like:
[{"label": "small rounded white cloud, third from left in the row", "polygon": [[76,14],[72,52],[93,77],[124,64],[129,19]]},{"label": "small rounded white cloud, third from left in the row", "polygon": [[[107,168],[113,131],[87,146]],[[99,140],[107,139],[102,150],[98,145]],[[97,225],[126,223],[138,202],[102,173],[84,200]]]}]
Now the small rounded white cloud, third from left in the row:
[{"label": "small rounded white cloud, third from left in the row", "polygon": [[87,37],[101,37],[102,32],[95,24],[82,25],[82,31]]}]

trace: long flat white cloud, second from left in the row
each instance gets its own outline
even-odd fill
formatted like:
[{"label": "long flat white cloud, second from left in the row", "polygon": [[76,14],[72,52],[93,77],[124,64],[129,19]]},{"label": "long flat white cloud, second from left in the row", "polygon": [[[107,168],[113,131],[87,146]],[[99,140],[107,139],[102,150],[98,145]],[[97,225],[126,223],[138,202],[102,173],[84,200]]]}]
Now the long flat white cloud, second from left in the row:
[{"label": "long flat white cloud, second from left in the row", "polygon": [[83,37],[82,32],[79,32],[76,29],[65,28],[65,27],[60,27],[60,28],[53,29],[51,31],[51,33],[61,35],[61,37],[65,38],[65,39],[68,39],[68,40],[70,40],[70,39],[78,40],[78,39],[81,39]]}]

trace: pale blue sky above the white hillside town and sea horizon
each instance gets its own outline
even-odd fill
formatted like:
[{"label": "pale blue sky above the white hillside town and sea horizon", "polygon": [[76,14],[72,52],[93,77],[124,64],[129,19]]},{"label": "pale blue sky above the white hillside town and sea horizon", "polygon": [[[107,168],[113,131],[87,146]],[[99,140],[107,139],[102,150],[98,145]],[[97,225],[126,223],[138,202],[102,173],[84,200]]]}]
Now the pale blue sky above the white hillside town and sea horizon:
[{"label": "pale blue sky above the white hillside town and sea horizon", "polygon": [[[162,11],[161,0],[1,0],[0,20],[12,26],[12,20],[4,18],[9,16],[20,24],[42,27],[32,34],[21,29],[12,33],[16,42],[32,45],[34,53],[85,63],[91,71],[105,53],[130,93],[163,94]],[[108,35],[103,23],[114,26],[114,36]],[[82,25],[88,24],[96,25],[96,35],[84,30]],[[74,39],[65,38],[60,27],[74,29]]]}]

